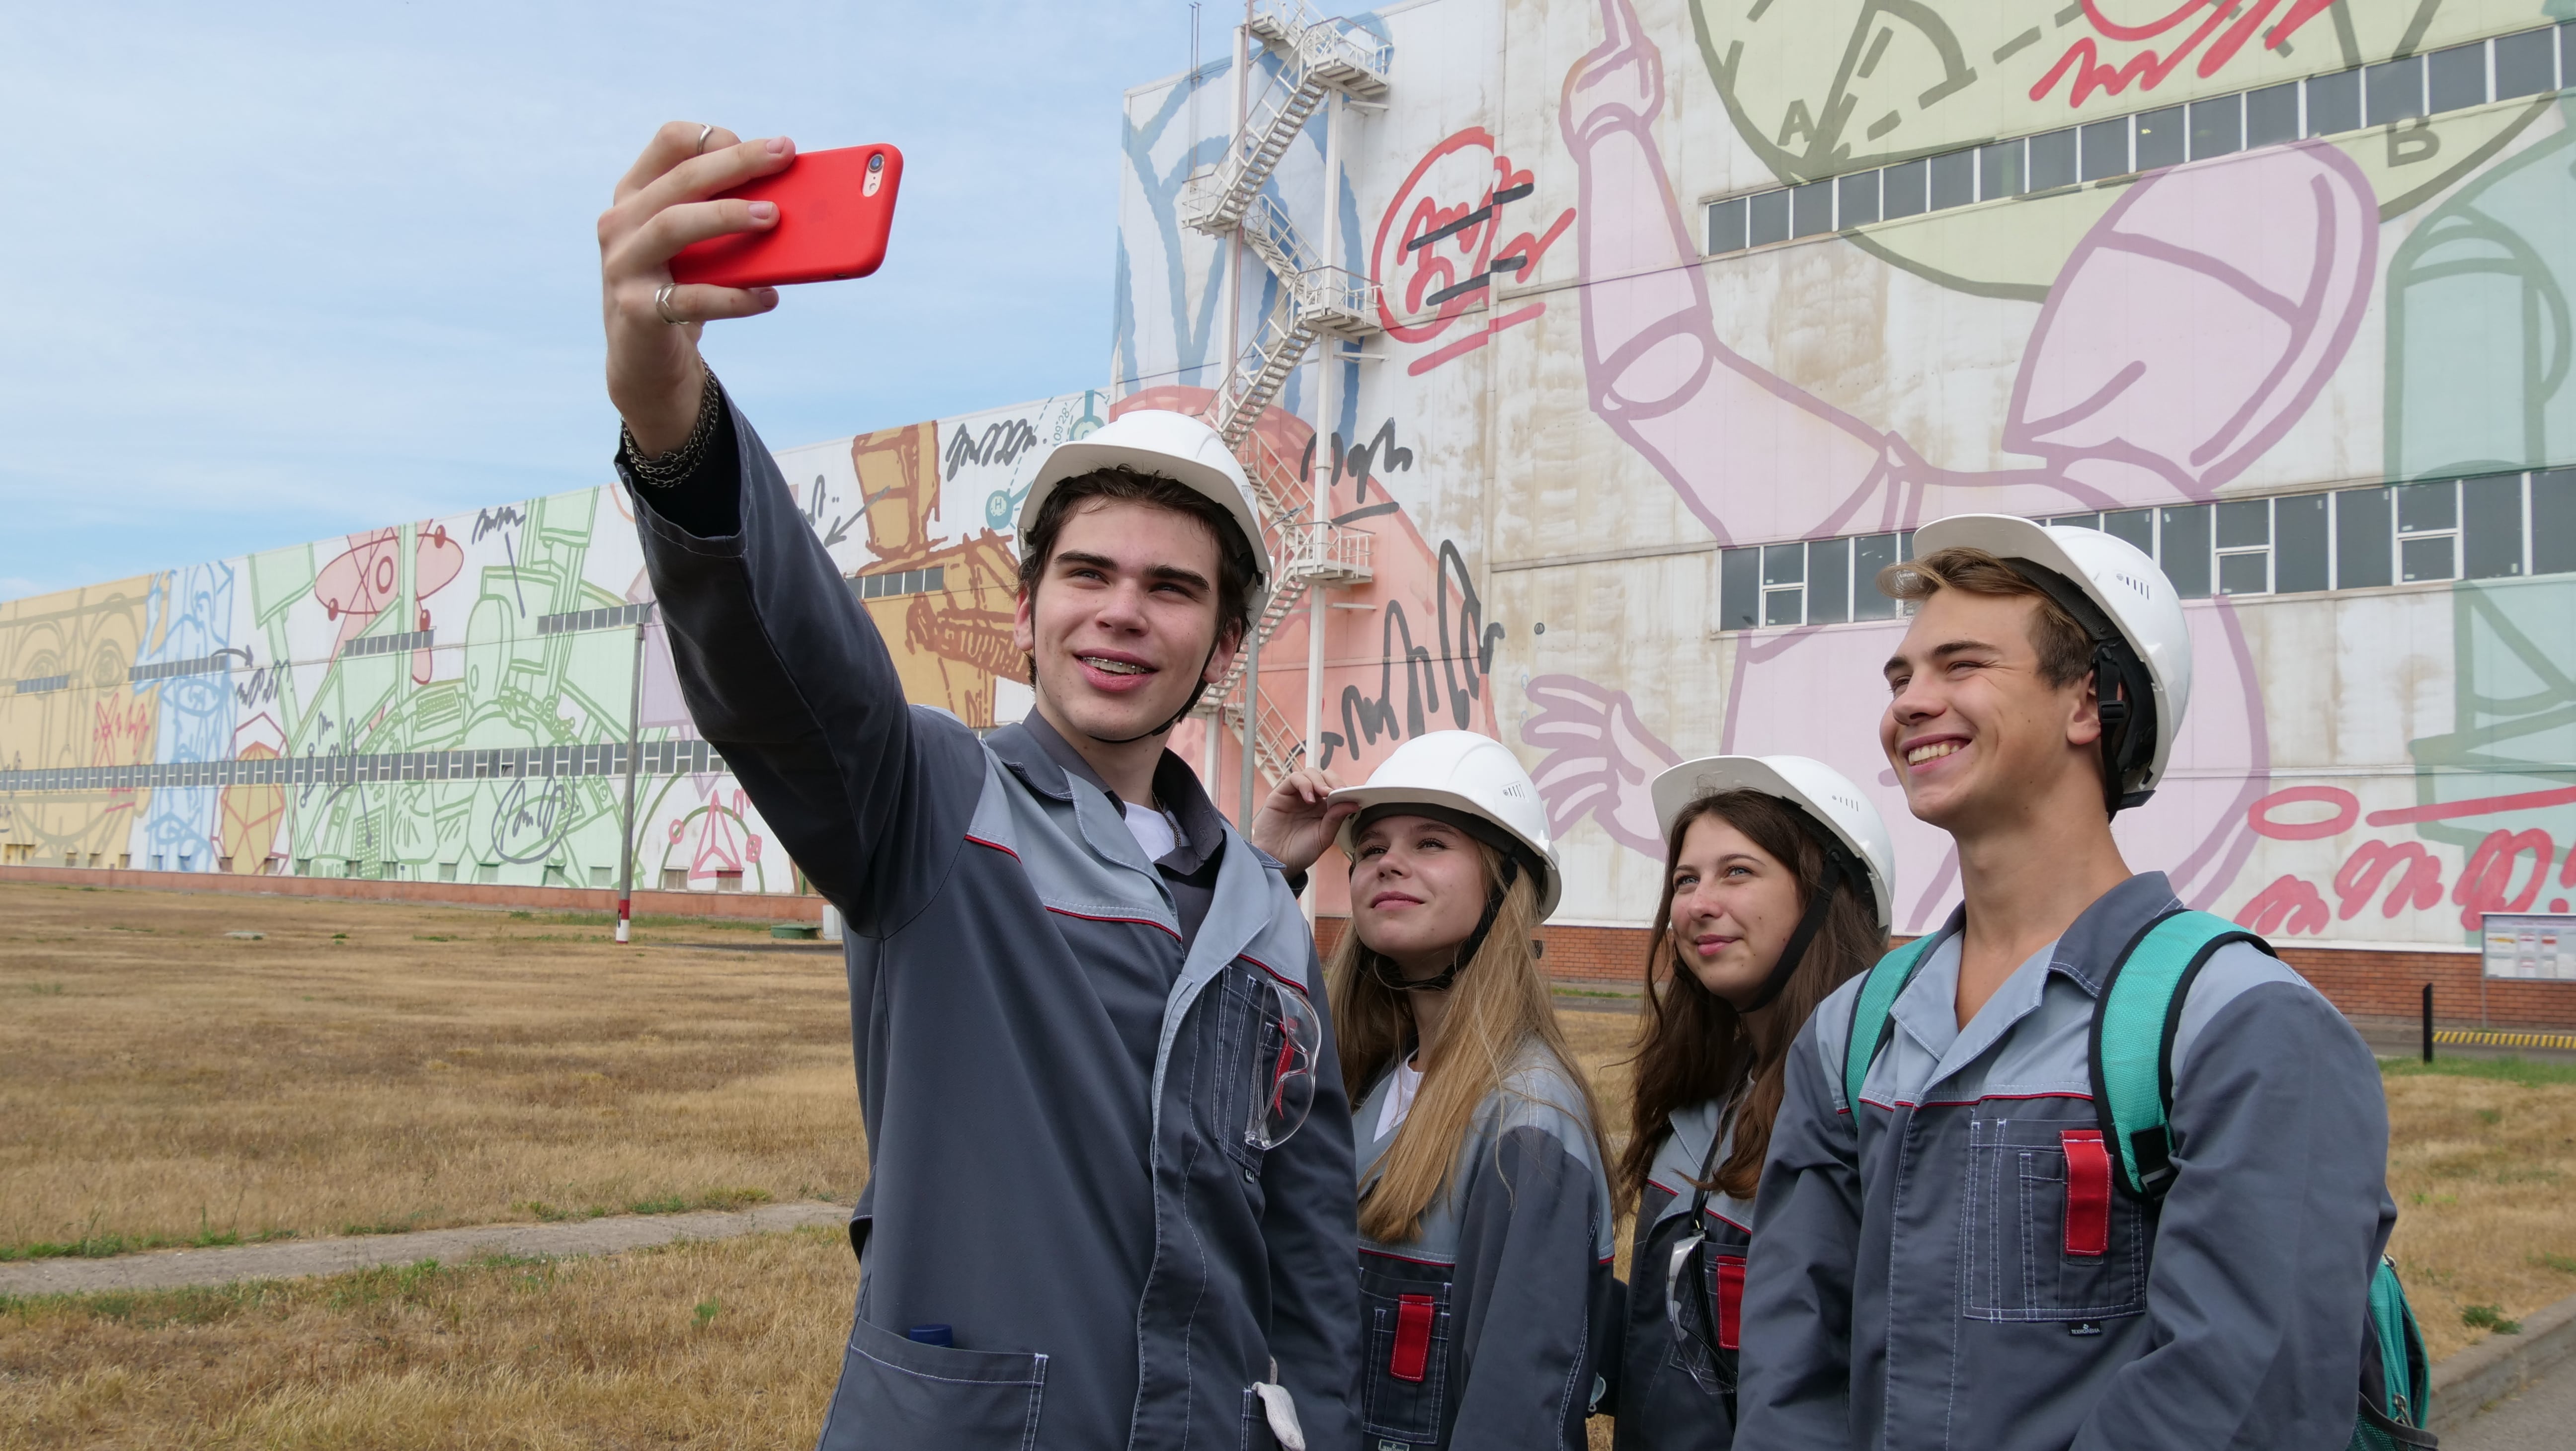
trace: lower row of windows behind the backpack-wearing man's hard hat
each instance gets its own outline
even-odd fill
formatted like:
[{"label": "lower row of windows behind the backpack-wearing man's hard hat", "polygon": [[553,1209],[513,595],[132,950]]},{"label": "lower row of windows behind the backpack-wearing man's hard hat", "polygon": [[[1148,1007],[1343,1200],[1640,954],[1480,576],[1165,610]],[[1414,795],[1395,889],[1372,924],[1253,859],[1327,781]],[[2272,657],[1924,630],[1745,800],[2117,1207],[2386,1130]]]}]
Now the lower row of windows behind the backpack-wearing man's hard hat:
[{"label": "lower row of windows behind the backpack-wearing man's hard hat", "polygon": [[[2187,601],[2571,575],[2576,469],[2063,513],[2048,523],[2136,544]],[[1888,619],[1896,601],[1878,593],[1878,570],[1911,557],[1911,533],[1726,549],[1718,629]]]}]

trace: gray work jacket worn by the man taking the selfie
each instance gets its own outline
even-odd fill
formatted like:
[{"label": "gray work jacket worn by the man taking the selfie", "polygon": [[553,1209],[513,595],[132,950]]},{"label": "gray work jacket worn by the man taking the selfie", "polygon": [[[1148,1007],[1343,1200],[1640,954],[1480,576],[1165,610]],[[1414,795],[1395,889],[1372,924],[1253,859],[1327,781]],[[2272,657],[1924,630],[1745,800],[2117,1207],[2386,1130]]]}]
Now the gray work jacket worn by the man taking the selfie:
[{"label": "gray work jacket worn by the man taking the selfie", "polygon": [[[1306,1436],[1347,1443],[1358,1232],[1329,1031],[1303,1129],[1247,1139],[1273,990],[1324,997],[1275,863],[1224,830],[1185,941],[1105,791],[1025,729],[979,742],[904,704],[768,448],[739,412],[729,433],[734,533],[672,518],[724,500],[654,490],[636,523],[690,714],[850,923],[873,1165],[822,1446],[1267,1448],[1252,1387],[1273,1361]],[[1200,804],[1182,817],[1213,820]],[[1123,1033],[1139,990],[1162,1021]]]}]

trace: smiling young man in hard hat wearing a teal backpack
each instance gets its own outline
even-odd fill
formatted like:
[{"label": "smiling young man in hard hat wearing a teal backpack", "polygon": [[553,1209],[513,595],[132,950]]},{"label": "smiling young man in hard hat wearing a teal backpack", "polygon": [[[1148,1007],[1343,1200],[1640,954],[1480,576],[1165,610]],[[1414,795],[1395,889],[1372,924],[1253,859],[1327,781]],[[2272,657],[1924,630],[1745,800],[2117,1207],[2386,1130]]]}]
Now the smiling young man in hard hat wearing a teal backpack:
[{"label": "smiling young man in hard hat wearing a teal backpack", "polygon": [[[1790,1052],[1736,1443],[2421,1443],[2370,1049],[2110,832],[2190,698],[2172,585],[2107,533],[2004,515],[1914,549],[1880,582],[1919,606],[1880,742],[1965,902]],[[2357,1441],[2365,1402],[2393,1438]]]}]

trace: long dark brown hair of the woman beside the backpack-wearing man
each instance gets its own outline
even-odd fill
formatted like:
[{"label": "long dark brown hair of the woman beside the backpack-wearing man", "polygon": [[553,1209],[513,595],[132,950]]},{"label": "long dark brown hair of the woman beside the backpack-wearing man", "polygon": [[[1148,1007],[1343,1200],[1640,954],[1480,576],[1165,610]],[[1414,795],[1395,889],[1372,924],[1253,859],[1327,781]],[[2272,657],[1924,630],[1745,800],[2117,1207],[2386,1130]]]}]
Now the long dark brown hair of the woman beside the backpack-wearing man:
[{"label": "long dark brown hair of the woman beside the backpack-wearing man", "polygon": [[[1798,1039],[1816,1005],[1868,969],[1888,948],[1875,907],[1837,879],[1824,928],[1806,946],[1780,997],[1747,1021],[1736,1005],[1700,987],[1682,961],[1672,936],[1672,874],[1682,861],[1682,840],[1700,817],[1718,817],[1754,845],[1798,874],[1798,910],[1806,912],[1824,881],[1824,845],[1816,843],[1803,812],[1765,791],[1716,791],[1682,807],[1664,843],[1664,899],[1654,907],[1654,943],[1646,948],[1646,1015],[1636,1039],[1636,1119],[1628,1149],[1618,1162],[1618,1193],[1636,1204],[1654,1168],[1654,1147],[1674,1108],[1726,1098],[1744,1090],[1736,1108],[1736,1147],[1716,1168],[1705,1188],[1752,1198],[1762,1180],[1762,1155],[1770,1152],[1770,1126],[1780,1113],[1788,1046]],[[1700,1183],[1700,1180],[1690,1180]]]}]

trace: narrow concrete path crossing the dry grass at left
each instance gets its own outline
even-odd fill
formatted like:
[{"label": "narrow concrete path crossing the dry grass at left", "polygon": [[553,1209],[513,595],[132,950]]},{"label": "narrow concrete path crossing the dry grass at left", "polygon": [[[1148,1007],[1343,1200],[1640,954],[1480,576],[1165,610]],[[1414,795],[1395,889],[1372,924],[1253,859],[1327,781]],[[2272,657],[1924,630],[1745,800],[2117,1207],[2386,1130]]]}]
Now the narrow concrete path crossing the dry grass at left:
[{"label": "narrow concrete path crossing the dry grass at left", "polygon": [[337,1276],[415,1260],[471,1260],[477,1255],[616,1255],[677,1240],[732,1240],[848,1224],[840,1204],[762,1204],[760,1209],[696,1214],[616,1214],[572,1224],[477,1224],[412,1235],[355,1235],[345,1240],[286,1240],[229,1250],[160,1250],[106,1260],[31,1260],[0,1265],[0,1294],[90,1294],[103,1289],[178,1289],[232,1281]]}]

